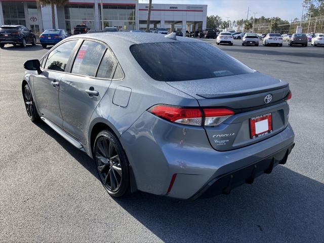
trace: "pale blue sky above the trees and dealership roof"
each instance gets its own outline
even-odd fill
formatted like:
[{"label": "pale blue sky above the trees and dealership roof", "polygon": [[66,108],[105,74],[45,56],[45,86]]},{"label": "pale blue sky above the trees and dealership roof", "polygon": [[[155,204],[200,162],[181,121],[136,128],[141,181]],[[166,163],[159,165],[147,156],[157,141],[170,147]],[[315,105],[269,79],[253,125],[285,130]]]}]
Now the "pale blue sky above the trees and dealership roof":
[{"label": "pale blue sky above the trees and dealership roof", "polygon": [[[250,17],[280,17],[284,20],[300,18],[302,0],[152,0],[154,4],[204,4],[208,5],[208,15],[219,15],[222,19],[237,20],[247,18],[250,6]],[[139,0],[148,3],[148,0]],[[249,18],[250,18],[249,17]]]}]

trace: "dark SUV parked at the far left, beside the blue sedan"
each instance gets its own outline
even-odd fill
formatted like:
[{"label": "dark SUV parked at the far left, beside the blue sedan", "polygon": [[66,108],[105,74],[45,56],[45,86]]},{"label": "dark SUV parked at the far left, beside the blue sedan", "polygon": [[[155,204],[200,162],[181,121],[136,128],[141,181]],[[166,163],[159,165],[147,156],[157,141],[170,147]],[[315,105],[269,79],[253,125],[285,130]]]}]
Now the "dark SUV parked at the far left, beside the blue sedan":
[{"label": "dark SUV parked at the far left, beside the blue sedan", "polygon": [[26,47],[27,43],[36,45],[35,34],[23,25],[3,25],[0,27],[0,48],[4,48],[6,44],[17,44]]}]

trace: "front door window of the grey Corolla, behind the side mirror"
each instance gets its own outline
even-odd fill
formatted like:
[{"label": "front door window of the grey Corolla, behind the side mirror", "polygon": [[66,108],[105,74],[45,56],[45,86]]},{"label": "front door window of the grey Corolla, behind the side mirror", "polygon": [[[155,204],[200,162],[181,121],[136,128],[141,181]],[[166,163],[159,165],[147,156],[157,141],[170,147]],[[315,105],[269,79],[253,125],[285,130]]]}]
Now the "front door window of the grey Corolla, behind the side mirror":
[{"label": "front door window of the grey Corolla, behind the side mirror", "polygon": [[77,40],[65,42],[51,51],[48,55],[45,68],[64,72],[66,64],[77,42]]}]

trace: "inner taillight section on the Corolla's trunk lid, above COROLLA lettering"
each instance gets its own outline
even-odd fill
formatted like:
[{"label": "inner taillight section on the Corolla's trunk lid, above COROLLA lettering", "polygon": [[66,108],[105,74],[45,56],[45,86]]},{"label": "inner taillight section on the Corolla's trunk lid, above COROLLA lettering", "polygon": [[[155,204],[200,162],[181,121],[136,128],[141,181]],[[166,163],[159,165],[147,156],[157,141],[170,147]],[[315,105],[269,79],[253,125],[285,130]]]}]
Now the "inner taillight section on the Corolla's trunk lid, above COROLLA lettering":
[{"label": "inner taillight section on the Corolla's trunk lid, above COROLLA lettering", "polygon": [[234,114],[234,111],[226,108],[203,109],[205,114],[204,126],[217,126]]}]

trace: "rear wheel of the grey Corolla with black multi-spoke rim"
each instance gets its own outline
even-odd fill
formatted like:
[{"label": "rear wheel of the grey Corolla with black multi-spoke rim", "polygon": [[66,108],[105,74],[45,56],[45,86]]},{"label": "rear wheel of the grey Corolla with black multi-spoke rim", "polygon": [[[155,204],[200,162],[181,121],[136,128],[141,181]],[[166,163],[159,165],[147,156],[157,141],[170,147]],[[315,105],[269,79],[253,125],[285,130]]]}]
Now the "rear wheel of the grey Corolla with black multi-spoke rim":
[{"label": "rear wheel of the grey Corolla with black multi-spoke rim", "polygon": [[98,176],[108,194],[121,197],[130,192],[129,162],[118,138],[110,131],[101,131],[95,140],[94,160]]}]

